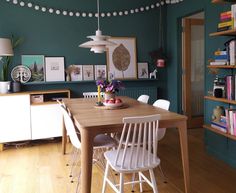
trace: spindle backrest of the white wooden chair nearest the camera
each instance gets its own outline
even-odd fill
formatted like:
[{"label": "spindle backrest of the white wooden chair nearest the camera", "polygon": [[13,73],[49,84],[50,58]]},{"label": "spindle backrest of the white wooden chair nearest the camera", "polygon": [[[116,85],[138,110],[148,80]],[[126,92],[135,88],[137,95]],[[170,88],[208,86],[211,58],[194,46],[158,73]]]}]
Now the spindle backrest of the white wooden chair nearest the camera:
[{"label": "spindle backrest of the white wooden chair nearest the camera", "polygon": [[155,163],[159,117],[149,115],[123,118],[124,126],[115,157],[117,167],[129,170],[146,168]]}]

